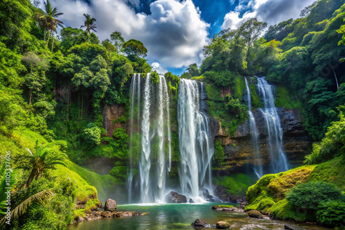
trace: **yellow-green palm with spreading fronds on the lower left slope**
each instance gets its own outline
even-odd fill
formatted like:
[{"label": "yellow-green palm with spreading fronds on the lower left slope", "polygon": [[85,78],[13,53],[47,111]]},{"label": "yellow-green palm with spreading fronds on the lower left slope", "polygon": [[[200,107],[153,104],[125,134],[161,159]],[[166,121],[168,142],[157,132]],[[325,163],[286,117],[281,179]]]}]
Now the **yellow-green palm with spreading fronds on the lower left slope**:
[{"label": "yellow-green palm with spreading fronds on the lower left slope", "polygon": [[57,165],[66,164],[63,160],[66,158],[65,154],[56,154],[55,151],[46,145],[42,147],[39,145],[39,141],[36,140],[36,145],[34,147],[34,154],[27,149],[30,155],[20,155],[16,158],[16,165],[18,169],[24,169],[30,171],[30,176],[24,185],[24,188],[28,187],[34,178],[39,178],[43,173],[49,169],[56,169]]}]

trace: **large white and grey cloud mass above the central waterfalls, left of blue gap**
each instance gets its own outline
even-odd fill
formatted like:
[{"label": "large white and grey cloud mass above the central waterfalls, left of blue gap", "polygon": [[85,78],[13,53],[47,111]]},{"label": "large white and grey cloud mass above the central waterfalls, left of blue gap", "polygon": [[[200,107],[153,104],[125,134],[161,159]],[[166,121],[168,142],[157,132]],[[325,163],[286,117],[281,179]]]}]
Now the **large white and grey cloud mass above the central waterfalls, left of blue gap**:
[{"label": "large white and grey cloud mass above the central waterfalls, left of blue gap", "polygon": [[[97,36],[107,39],[119,31],[124,39],[137,39],[148,49],[147,59],[166,67],[183,67],[201,63],[201,50],[208,44],[208,23],[193,1],[158,0],[150,3],[151,14],[136,13],[129,5],[137,6],[139,0],[50,0],[53,7],[64,14],[59,17],[65,25],[79,28],[83,13],[97,19]],[[42,5],[41,5],[42,6]]]}]

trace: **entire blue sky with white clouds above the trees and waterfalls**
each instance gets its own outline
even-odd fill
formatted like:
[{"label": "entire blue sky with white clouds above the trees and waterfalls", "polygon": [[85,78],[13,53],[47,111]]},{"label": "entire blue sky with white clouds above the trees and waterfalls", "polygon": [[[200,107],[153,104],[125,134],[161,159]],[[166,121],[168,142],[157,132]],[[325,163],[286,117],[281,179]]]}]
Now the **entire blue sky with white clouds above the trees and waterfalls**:
[{"label": "entire blue sky with white clouds above the trees and waterfalls", "polygon": [[[275,25],[299,17],[315,0],[50,0],[65,26],[80,28],[83,13],[97,19],[100,41],[115,31],[148,49],[153,70],[180,75],[201,64],[202,48],[213,34],[236,29],[251,18]],[[43,0],[40,6],[43,8]]]}]

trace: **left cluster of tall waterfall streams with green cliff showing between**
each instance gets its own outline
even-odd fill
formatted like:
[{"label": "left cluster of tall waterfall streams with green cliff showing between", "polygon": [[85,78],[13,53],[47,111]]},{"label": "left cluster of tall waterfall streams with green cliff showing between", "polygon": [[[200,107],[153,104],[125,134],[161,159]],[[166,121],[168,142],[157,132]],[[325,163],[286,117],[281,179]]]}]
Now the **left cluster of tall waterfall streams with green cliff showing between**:
[{"label": "left cluster of tall waterfall streams with green cliff showing between", "polygon": [[[168,87],[164,76],[159,76],[158,83],[152,82],[150,74],[143,81],[141,79],[143,78],[140,74],[133,74],[130,85],[128,201],[132,202],[134,177],[132,158],[139,154],[139,202],[164,202],[166,176],[171,164]],[[135,120],[137,120],[136,129]],[[135,130],[141,134],[140,153],[134,153],[132,150]],[[154,147],[157,152],[152,152]]]}]

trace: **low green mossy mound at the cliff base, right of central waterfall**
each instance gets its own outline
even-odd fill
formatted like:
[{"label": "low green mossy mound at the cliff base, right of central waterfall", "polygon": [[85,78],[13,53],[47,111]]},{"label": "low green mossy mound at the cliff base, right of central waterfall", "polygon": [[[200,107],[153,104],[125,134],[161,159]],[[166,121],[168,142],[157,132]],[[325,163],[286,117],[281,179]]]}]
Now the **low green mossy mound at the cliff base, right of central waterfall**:
[{"label": "low green mossy mound at the cliff base, right of central waterfall", "polygon": [[246,174],[231,174],[223,178],[215,178],[216,185],[226,187],[226,192],[235,196],[245,196],[248,187],[254,183],[255,178],[251,178]]}]

